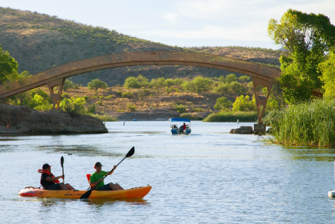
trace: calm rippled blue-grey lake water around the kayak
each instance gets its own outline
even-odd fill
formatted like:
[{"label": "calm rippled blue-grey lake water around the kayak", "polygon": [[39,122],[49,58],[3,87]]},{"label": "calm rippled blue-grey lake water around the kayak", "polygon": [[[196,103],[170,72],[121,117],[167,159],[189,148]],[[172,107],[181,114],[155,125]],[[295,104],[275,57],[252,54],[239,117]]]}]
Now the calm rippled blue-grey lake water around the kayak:
[{"label": "calm rippled blue-grey lake water around the kayak", "polygon": [[[333,148],[283,147],[267,137],[229,134],[252,123],[192,122],[190,136],[169,122],[106,123],[108,134],[0,137],[0,223],[335,223]],[[105,182],[152,186],[143,200],[19,197],[40,186],[38,169],[86,190],[94,162]],[[71,154],[71,155],[69,155]]]}]

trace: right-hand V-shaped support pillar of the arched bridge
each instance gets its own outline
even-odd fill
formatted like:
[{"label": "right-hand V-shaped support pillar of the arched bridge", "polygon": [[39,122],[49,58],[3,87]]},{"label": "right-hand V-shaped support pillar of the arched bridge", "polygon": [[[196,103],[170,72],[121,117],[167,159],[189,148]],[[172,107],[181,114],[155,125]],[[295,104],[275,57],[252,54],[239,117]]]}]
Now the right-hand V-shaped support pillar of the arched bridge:
[{"label": "right-hand V-shaped support pillar of the arched bridge", "polygon": [[[262,79],[259,79],[259,78],[252,77],[252,84],[254,86],[257,113],[258,113],[258,125],[257,125],[257,127],[262,128],[262,130],[264,129],[263,131],[265,131],[266,127],[265,127],[265,125],[262,125],[263,124],[262,123],[262,117],[264,115],[266,103],[268,102],[268,99],[269,99],[269,96],[270,96],[270,93],[271,93],[273,80],[266,81],[266,80],[262,80]],[[256,90],[257,85],[261,85],[261,86],[267,88],[268,92],[266,94],[266,97],[257,96],[257,90]],[[261,111],[261,107],[262,107],[262,111]]]}]

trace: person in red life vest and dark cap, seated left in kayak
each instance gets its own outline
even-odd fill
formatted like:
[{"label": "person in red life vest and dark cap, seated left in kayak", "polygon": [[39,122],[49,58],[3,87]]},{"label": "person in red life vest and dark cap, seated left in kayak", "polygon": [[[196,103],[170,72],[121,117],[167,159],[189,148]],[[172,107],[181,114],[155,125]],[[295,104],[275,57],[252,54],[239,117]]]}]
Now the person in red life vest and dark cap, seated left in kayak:
[{"label": "person in red life vest and dark cap, seated left in kayak", "polygon": [[64,179],[62,176],[51,174],[51,166],[48,163],[43,164],[43,173],[41,175],[41,185],[44,190],[76,190],[69,183],[59,183],[58,179]]}]

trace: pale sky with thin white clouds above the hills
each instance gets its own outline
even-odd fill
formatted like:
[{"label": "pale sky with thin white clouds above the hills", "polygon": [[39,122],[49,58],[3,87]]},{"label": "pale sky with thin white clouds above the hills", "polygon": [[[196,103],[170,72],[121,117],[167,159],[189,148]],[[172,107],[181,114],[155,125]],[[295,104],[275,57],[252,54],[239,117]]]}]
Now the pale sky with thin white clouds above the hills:
[{"label": "pale sky with thin white clouds above the hills", "polygon": [[279,21],[289,8],[327,15],[335,25],[335,0],[1,0],[0,6],[179,47],[278,49],[267,25],[271,18]]}]

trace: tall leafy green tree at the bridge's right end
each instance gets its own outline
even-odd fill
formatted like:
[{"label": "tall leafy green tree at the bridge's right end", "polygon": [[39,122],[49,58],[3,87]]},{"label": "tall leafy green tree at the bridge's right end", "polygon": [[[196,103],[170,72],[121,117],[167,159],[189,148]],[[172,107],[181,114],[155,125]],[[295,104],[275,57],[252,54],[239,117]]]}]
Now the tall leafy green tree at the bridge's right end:
[{"label": "tall leafy green tree at the bridge's right end", "polygon": [[321,89],[318,64],[335,44],[335,27],[327,16],[289,9],[280,19],[271,19],[269,36],[287,55],[280,57],[280,86],[289,104],[308,100],[311,90]]}]

